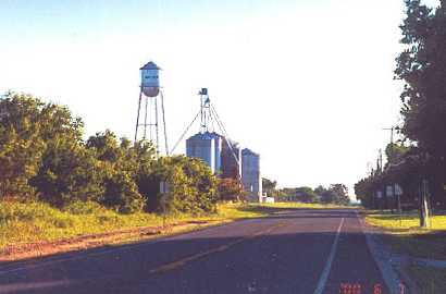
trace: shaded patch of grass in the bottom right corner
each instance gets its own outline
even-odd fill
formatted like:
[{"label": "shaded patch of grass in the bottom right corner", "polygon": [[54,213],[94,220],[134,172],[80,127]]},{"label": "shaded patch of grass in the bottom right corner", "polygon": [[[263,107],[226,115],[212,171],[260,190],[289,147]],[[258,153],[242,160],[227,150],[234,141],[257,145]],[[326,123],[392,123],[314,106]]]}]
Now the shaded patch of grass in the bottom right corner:
[{"label": "shaded patch of grass in the bottom right corner", "polygon": [[407,272],[420,287],[420,294],[446,293],[446,269],[409,266]]}]

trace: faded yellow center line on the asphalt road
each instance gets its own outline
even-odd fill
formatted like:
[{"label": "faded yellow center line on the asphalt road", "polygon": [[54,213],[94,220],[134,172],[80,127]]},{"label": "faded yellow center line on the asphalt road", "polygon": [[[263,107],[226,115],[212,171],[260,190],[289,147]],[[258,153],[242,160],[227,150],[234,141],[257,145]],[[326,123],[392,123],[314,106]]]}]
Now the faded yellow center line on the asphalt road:
[{"label": "faded yellow center line on the asphalt road", "polygon": [[149,273],[161,273],[161,272],[166,272],[166,271],[170,271],[170,270],[174,270],[174,269],[181,268],[181,267],[185,266],[187,262],[197,260],[197,259],[199,259],[199,258],[206,257],[206,256],[211,255],[211,254],[214,254],[214,253],[224,252],[224,250],[231,248],[232,246],[234,246],[234,245],[236,245],[236,244],[238,244],[238,243],[241,243],[241,242],[245,242],[245,241],[255,238],[255,237],[257,237],[257,236],[259,236],[259,235],[269,234],[269,233],[271,233],[271,231],[273,231],[273,230],[275,230],[275,229],[278,229],[278,228],[281,228],[281,226],[283,226],[283,225],[285,225],[284,222],[278,223],[278,224],[275,224],[275,225],[273,225],[273,226],[271,226],[271,228],[269,228],[269,229],[267,229],[267,230],[263,230],[263,231],[253,233],[253,234],[251,234],[251,235],[249,235],[249,236],[241,237],[241,238],[236,240],[236,241],[234,241],[234,242],[230,242],[230,243],[227,243],[227,244],[221,245],[221,246],[219,246],[219,247],[215,247],[215,248],[212,248],[212,249],[209,249],[209,250],[206,250],[206,252],[196,254],[196,255],[191,255],[191,256],[188,256],[188,257],[178,259],[178,260],[173,261],[173,262],[169,262],[169,264],[159,266],[159,267],[157,267],[157,268],[154,268],[154,269],[151,269],[151,270],[149,271]]}]

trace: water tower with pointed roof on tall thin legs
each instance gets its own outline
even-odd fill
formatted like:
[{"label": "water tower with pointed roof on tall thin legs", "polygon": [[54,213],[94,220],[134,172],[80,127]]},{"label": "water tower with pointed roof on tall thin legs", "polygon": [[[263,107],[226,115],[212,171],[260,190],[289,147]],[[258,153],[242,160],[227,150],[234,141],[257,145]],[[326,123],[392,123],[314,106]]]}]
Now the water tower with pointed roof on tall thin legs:
[{"label": "water tower with pointed roof on tall thin legs", "polygon": [[[164,97],[160,87],[160,68],[152,61],[139,69],[141,84],[139,86],[138,114],[136,117],[135,142],[138,139],[151,140],[157,154],[161,150],[160,123],[164,136],[164,151],[169,155],[168,135],[165,130]],[[141,108],[141,103],[144,103]]]}]

